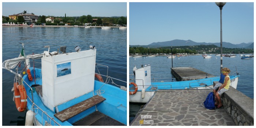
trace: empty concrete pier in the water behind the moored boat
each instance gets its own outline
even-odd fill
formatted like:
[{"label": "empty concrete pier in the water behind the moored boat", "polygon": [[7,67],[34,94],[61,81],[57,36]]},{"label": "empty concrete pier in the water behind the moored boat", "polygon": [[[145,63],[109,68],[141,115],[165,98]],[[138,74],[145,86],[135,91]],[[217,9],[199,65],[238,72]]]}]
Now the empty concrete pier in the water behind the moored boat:
[{"label": "empty concrete pier in the water behind the moored boat", "polygon": [[176,67],[171,68],[173,76],[178,81],[186,81],[186,80],[196,80],[196,79],[204,79],[204,78],[212,78],[214,75],[208,74],[206,72],[200,71],[198,69],[192,67]]}]

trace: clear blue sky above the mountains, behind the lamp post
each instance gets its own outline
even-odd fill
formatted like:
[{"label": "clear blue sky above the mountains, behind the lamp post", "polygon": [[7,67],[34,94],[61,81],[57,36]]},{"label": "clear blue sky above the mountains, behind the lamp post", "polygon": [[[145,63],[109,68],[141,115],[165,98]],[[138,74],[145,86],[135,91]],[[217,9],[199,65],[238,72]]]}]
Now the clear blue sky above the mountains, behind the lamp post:
[{"label": "clear blue sky above the mountains, behind the lamp post", "polygon": [[[226,3],[222,41],[253,42],[253,3]],[[220,10],[215,3],[129,3],[129,45],[174,39],[220,42]]]}]

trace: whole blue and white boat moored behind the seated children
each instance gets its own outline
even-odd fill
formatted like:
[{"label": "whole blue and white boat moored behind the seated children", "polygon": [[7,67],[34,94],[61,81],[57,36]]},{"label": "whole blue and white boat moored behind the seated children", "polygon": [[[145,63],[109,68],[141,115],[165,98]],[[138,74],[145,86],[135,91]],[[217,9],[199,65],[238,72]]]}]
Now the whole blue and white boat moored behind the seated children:
[{"label": "whole blue and white boat moored behind the seated children", "polygon": [[[147,103],[158,90],[212,89],[214,81],[218,82],[220,79],[220,77],[217,76],[187,81],[157,82],[155,78],[151,79],[151,65],[142,65],[139,69],[135,66],[133,68],[133,74],[134,76],[131,76],[129,82],[129,102],[139,103]],[[229,74],[231,79],[230,86],[236,89],[239,75],[237,72],[233,74]]]}]

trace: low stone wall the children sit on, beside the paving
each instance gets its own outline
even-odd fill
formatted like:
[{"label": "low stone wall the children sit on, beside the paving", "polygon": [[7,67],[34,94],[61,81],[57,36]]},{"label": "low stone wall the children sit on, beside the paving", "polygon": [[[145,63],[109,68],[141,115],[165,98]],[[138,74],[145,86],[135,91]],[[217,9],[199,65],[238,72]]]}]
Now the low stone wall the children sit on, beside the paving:
[{"label": "low stone wall the children sit on, beside the paving", "polygon": [[253,99],[242,94],[230,86],[229,91],[226,91],[221,100],[223,107],[229,116],[239,126],[253,126]]}]

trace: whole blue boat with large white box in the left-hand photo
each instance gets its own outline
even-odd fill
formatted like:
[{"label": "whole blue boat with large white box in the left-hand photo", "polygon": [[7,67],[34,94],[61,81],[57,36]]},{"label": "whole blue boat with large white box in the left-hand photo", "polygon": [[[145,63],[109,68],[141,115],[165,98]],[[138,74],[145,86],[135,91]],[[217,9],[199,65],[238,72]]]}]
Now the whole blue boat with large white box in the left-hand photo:
[{"label": "whole blue boat with large white box in the left-hand photo", "polygon": [[[71,53],[63,47],[63,53],[50,53],[47,46],[33,55],[23,48],[19,57],[3,62],[3,69],[15,74],[14,101],[19,112],[27,110],[26,125],[127,125],[126,87],[110,85],[118,79],[95,72],[97,65],[108,70],[96,63],[95,46]],[[41,68],[30,66],[30,59],[41,59]]]}]

